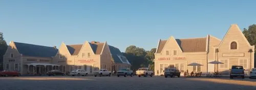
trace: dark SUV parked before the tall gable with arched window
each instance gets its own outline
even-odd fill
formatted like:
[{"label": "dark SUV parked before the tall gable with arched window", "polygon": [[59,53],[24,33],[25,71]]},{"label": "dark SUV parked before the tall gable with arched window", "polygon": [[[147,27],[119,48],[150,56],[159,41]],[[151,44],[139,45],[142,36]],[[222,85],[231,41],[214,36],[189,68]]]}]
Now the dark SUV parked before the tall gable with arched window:
[{"label": "dark SUV parked before the tall gable with arched window", "polygon": [[233,77],[242,77],[244,79],[244,68],[243,66],[232,66],[230,69],[230,79]]}]

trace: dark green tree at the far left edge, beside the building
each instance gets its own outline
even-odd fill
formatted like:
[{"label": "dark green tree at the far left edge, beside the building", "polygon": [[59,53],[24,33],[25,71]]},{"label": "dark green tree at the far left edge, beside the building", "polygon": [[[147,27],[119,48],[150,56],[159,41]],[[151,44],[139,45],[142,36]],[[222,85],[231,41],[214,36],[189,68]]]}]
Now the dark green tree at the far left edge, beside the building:
[{"label": "dark green tree at the far left edge, beside the building", "polygon": [[6,41],[4,40],[3,33],[0,32],[0,70],[3,70],[3,59],[7,49]]}]

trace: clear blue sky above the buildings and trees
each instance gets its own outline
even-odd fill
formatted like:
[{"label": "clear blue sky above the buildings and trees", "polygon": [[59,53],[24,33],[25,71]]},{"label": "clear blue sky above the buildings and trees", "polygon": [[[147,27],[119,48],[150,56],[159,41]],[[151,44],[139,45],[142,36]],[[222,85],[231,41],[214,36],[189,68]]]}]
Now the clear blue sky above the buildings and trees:
[{"label": "clear blue sky above the buildings and trees", "polygon": [[46,46],[107,41],[124,51],[159,39],[222,39],[230,24],[256,21],[256,1],[0,1],[0,32],[10,41]]}]

